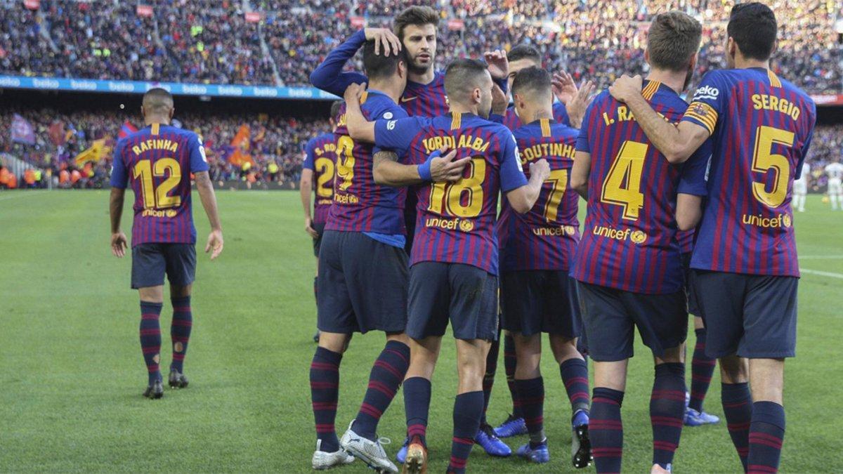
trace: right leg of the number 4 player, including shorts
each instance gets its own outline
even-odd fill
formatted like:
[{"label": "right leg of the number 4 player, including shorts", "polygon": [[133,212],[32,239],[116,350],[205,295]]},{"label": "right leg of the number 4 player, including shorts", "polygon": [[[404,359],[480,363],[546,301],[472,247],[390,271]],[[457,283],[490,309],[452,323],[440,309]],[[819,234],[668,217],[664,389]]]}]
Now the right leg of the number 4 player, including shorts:
[{"label": "right leg of the number 4 player, including shorts", "polygon": [[681,288],[671,294],[624,292],[622,299],[655,360],[650,396],[652,472],[670,471],[685,419],[682,351],[688,335],[687,295]]}]

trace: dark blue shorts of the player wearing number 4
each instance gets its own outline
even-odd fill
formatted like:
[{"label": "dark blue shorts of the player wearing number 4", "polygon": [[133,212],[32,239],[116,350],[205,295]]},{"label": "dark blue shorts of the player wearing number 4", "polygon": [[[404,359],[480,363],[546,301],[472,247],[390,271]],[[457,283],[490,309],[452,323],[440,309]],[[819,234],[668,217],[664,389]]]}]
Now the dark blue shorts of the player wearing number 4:
[{"label": "dark blue shorts of the player wearing number 4", "polygon": [[579,298],[588,355],[598,362],[631,358],[635,327],[656,357],[688,336],[685,289],[642,294],[579,282]]}]

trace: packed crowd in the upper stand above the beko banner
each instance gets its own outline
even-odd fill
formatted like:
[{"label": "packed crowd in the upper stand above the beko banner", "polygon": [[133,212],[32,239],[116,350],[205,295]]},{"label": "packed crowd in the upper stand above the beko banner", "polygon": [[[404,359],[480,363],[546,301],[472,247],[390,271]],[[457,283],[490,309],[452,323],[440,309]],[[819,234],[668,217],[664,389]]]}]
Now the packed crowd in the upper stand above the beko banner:
[{"label": "packed crowd in the upper stand above the beko banner", "polygon": [[[304,2],[149,1],[153,17],[134,3],[44,0],[34,13],[2,0],[0,71],[81,78],[132,78],[199,83],[308,85],[309,68],[357,29],[354,19],[384,26],[396,8],[433,4],[442,19],[438,66],[454,57],[528,42],[547,57],[546,67],[608,85],[623,72],[642,72],[640,45],[652,15],[678,8],[704,21],[698,73],[722,67],[728,4],[721,0],[375,0]],[[776,73],[814,93],[843,89],[843,46],[831,0],[768,0],[783,18]],[[244,19],[249,8],[260,23]],[[462,31],[477,32],[463,35]],[[262,47],[266,42],[267,48]],[[699,75],[698,75],[699,78]]]}]

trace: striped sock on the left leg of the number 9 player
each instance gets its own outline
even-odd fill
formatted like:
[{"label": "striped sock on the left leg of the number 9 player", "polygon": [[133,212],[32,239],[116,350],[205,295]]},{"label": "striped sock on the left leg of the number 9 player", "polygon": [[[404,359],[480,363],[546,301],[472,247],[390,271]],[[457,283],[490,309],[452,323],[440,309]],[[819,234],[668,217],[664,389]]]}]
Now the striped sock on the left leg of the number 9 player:
[{"label": "striped sock on the left leg of the number 9 player", "polygon": [[316,439],[322,442],[319,450],[329,453],[340,449],[334,420],[336,401],[340,394],[341,361],[341,353],[335,353],[325,347],[316,347],[314,360],[310,363],[310,399],[314,408]]}]

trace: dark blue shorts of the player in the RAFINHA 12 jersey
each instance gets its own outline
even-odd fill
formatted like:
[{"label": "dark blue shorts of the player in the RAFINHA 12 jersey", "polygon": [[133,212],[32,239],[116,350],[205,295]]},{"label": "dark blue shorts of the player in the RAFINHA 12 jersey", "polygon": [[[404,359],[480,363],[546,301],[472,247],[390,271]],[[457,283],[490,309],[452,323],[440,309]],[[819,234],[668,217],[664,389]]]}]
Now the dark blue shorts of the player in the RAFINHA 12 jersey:
[{"label": "dark blue shorts of the player in the RAFINHA 12 jersey", "polygon": [[148,242],[132,247],[132,288],[186,287],[196,278],[196,245]]}]

